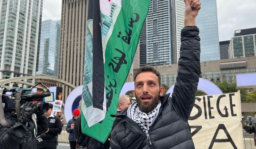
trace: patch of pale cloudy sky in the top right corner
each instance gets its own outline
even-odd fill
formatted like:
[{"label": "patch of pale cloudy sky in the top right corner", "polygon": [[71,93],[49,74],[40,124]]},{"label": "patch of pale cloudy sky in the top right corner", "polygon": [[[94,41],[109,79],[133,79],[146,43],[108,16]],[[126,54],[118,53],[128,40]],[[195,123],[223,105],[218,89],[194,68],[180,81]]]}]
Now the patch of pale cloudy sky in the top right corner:
[{"label": "patch of pale cloudy sky in the top right corner", "polygon": [[230,40],[235,30],[256,27],[255,0],[217,0],[219,40]]}]

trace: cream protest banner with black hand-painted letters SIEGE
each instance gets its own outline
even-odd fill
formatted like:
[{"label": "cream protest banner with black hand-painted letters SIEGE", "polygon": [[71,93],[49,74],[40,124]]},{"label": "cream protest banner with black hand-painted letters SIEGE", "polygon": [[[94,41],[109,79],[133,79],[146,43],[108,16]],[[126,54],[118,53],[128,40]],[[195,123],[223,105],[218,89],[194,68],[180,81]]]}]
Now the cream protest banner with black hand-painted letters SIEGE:
[{"label": "cream protest banner with black hand-painted letters SIEGE", "polygon": [[196,149],[244,149],[240,91],[196,97],[189,117]]}]

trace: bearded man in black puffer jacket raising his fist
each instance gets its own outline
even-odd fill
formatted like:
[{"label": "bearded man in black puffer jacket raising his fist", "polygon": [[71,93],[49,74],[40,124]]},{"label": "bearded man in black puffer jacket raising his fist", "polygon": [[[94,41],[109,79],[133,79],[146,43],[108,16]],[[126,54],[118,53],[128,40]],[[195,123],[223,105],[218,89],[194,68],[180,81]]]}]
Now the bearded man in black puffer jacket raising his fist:
[{"label": "bearded man in black puffer jacket raising his fist", "polygon": [[201,73],[200,37],[195,18],[199,0],[184,0],[185,27],[181,30],[178,76],[170,98],[163,96],[160,73],[151,66],[139,68],[134,76],[136,102],[121,113],[123,118],[111,132],[111,149],[194,149],[188,125]]}]

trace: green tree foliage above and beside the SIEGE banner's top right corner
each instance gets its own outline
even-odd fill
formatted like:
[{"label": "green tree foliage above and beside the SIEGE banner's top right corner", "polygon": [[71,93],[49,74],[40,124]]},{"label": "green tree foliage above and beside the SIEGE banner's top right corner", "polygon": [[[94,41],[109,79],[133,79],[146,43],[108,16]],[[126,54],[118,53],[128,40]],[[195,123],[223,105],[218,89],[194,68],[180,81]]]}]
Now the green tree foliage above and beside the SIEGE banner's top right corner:
[{"label": "green tree foliage above and beside the SIEGE banner's top right corner", "polygon": [[226,93],[234,93],[237,92],[238,90],[240,90],[240,95],[241,95],[241,102],[246,102],[246,95],[247,92],[245,89],[241,89],[241,88],[236,88],[236,83],[228,83],[228,82],[222,82],[222,83],[215,83],[224,94]]}]

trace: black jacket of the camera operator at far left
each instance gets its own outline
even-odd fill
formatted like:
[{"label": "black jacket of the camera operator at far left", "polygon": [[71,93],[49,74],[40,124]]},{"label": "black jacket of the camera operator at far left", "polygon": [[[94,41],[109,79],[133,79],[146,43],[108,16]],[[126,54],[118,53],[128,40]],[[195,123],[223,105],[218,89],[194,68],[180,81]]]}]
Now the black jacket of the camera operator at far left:
[{"label": "black jacket of the camera operator at far left", "polygon": [[[35,123],[31,119],[28,126],[17,121],[16,115],[4,113],[5,120],[11,125],[10,128],[0,124],[0,149],[36,149],[36,138],[34,136]],[[37,132],[45,132],[48,123],[45,116],[37,115]],[[26,142],[25,142],[26,141]]]}]

